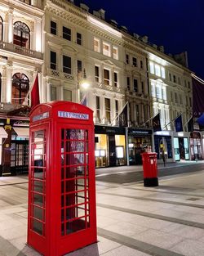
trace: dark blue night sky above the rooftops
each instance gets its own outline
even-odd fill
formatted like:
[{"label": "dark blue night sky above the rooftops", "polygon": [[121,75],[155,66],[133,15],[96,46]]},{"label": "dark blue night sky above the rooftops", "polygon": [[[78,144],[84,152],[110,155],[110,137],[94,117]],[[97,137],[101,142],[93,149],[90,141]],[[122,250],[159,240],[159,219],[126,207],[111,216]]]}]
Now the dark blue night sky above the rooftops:
[{"label": "dark blue night sky above the rooftops", "polygon": [[129,32],[147,35],[149,42],[163,45],[167,54],[187,51],[189,69],[204,79],[204,0],[84,0],[83,3],[91,10],[103,8],[106,20],[116,20]]}]

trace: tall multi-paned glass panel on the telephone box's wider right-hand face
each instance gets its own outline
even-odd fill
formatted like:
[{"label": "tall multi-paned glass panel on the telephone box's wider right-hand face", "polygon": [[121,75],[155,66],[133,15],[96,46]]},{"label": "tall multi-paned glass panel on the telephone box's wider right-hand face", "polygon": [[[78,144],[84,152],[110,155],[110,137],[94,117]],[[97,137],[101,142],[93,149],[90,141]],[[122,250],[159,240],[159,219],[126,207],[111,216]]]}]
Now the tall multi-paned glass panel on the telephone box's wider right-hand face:
[{"label": "tall multi-paned glass panel on the telephone box's wider right-hand face", "polygon": [[88,131],[61,130],[61,235],[89,227]]}]

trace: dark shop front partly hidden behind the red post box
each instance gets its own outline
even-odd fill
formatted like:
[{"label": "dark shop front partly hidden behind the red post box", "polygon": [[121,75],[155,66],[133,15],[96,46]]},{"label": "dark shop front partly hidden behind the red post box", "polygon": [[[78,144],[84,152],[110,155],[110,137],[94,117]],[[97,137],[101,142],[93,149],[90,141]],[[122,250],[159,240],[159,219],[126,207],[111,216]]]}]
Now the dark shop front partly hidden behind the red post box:
[{"label": "dark shop front partly hidden behind the red post box", "polygon": [[129,164],[142,164],[141,153],[152,149],[152,129],[128,128]]}]

